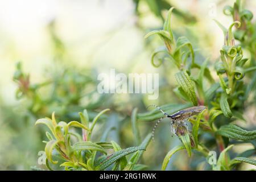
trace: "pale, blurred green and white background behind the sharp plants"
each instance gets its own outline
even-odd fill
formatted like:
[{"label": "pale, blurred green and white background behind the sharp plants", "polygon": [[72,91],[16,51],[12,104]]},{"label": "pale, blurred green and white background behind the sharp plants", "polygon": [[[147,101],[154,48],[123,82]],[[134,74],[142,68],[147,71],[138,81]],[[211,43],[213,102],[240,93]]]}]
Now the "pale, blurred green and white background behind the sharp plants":
[{"label": "pale, blurred green and white background behind the sharp plants", "polygon": [[[256,12],[255,1],[243,2],[247,9]],[[0,169],[29,170],[31,166],[40,166],[38,152],[44,150],[46,128],[35,127],[34,123],[50,117],[53,111],[59,121],[72,121],[79,119],[78,112],[83,109],[88,109],[93,117],[96,111],[110,108],[110,114],[105,115],[96,130],[100,134],[114,126],[116,130],[110,133],[110,139],[121,147],[133,146],[129,117],[134,107],[142,113],[150,104],[182,103],[172,92],[176,67],[168,62],[156,69],[150,63],[151,53],[162,45],[161,40],[144,40],[144,35],[161,28],[167,10],[174,6],[174,34],[188,37],[198,49],[197,59],[210,57],[210,61],[215,61],[224,38],[212,19],[230,24],[232,20],[222,9],[233,3],[1,0]],[[109,73],[111,68],[126,74],[159,73],[159,99],[148,100],[146,94],[98,94],[97,75]],[[28,74],[30,93],[22,94],[18,88],[26,84],[19,85],[15,78],[28,78]],[[245,115],[249,124],[255,124],[255,107]],[[141,135],[148,134],[153,125],[154,121],[140,122]],[[156,130],[155,138],[143,155],[143,163],[149,169],[160,169],[166,153],[179,143],[171,137],[167,121]],[[236,150],[247,148],[250,146]],[[186,165],[189,159],[184,154],[181,151],[175,155],[168,169],[193,168]],[[206,165],[197,162],[197,169]]]}]

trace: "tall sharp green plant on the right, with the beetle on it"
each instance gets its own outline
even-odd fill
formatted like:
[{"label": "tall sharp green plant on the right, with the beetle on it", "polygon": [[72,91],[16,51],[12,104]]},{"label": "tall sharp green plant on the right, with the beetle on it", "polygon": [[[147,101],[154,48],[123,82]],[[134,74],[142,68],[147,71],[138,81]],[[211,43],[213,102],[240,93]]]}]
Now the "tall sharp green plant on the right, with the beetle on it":
[{"label": "tall sharp green plant on the right, with the beetle on it", "polygon": [[[240,3],[240,1],[237,1],[237,3]],[[159,35],[163,40],[165,48],[158,49],[152,54],[151,63],[154,67],[160,67],[163,60],[167,59],[177,66],[179,72],[175,74],[177,87],[174,89],[174,92],[181,100],[186,101],[187,104],[168,104],[161,107],[168,114],[175,113],[175,111],[191,105],[205,105],[208,107],[208,110],[200,113],[197,117],[189,119],[189,122],[192,123],[192,131],[186,130],[184,127],[183,134],[178,135],[182,144],[168,152],[162,164],[162,169],[166,169],[171,156],[177,151],[185,149],[188,156],[192,156],[192,151],[195,151],[195,153],[197,151],[206,160],[208,152],[215,150],[216,147],[220,152],[220,156],[217,164],[212,166],[214,170],[230,170],[236,168],[240,162],[255,165],[256,161],[248,157],[255,153],[254,140],[256,139],[256,130],[247,131],[233,124],[236,120],[245,120],[242,115],[245,110],[245,103],[249,99],[247,93],[252,90],[248,89],[250,84],[244,81],[244,77],[246,77],[248,72],[254,72],[255,67],[245,64],[248,59],[243,58],[242,46],[235,44],[232,27],[236,26],[239,29],[241,22],[245,26],[247,20],[251,19],[251,16],[247,18],[247,14],[250,15],[251,13],[248,11],[246,11],[246,15],[242,13],[243,16],[235,19],[229,28],[225,28],[216,20],[216,23],[224,32],[224,46],[220,50],[220,61],[214,63],[214,69],[218,76],[218,80],[215,80],[209,71],[210,61],[207,59],[201,63],[197,62],[192,43],[184,36],[175,39],[171,28],[173,9],[172,7],[168,11],[163,30],[151,31],[145,38],[151,35]],[[234,13],[237,13],[237,11],[234,11]],[[238,20],[241,20],[241,22]],[[243,31],[245,31],[243,36],[246,37],[246,29]],[[155,58],[160,54],[163,56],[158,59],[159,63],[156,64]],[[192,72],[194,69],[196,71]],[[162,117],[162,113],[159,113],[157,109],[138,114],[138,119],[142,121],[152,121],[160,117]],[[191,135],[190,138],[185,137],[189,135]],[[203,139],[202,137],[205,135],[209,139]],[[213,139],[215,142],[212,142]],[[247,155],[234,154],[234,152],[229,154],[228,150],[233,146],[229,144],[236,144],[238,141],[240,143],[253,143],[253,154],[249,153],[249,155],[248,152],[246,152]],[[237,157],[230,160],[230,155]]]}]

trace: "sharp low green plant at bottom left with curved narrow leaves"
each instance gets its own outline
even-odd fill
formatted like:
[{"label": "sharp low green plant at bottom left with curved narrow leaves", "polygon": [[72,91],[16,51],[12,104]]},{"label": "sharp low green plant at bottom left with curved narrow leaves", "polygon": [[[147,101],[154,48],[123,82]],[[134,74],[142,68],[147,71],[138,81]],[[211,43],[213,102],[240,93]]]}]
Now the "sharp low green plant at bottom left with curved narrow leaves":
[{"label": "sharp low green plant at bottom left with curved narrow leaves", "polygon": [[[148,135],[138,147],[129,147],[122,149],[113,140],[106,142],[106,138],[102,138],[100,142],[93,142],[91,136],[94,126],[102,114],[109,109],[102,110],[96,115],[92,123],[89,122],[88,113],[79,113],[81,123],[77,121],[56,122],[55,114],[52,118],[38,119],[36,125],[47,125],[51,133],[46,132],[48,141],[46,143],[46,164],[52,170],[52,164],[58,164],[65,170],[104,170],[112,166],[112,170],[140,170],[145,166],[137,164],[151,140]],[[72,131],[71,127],[78,127],[82,130],[82,134]],[[108,131],[107,131],[108,132]],[[106,136],[104,134],[102,136]],[[72,138],[75,137],[75,138]],[[114,152],[110,155],[108,150]],[[127,160],[126,155],[135,154]],[[100,154],[99,154],[100,153]]]}]

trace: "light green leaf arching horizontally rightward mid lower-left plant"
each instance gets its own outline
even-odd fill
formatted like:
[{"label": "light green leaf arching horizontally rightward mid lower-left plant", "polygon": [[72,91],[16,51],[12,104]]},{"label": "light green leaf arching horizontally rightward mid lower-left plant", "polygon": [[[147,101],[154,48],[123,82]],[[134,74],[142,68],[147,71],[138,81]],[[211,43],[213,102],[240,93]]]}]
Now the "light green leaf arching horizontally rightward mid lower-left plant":
[{"label": "light green leaf arching horizontally rightward mid lower-left plant", "polygon": [[93,142],[77,142],[72,146],[73,150],[92,150],[92,151],[100,151],[106,154],[106,151],[100,145],[93,143]]}]

